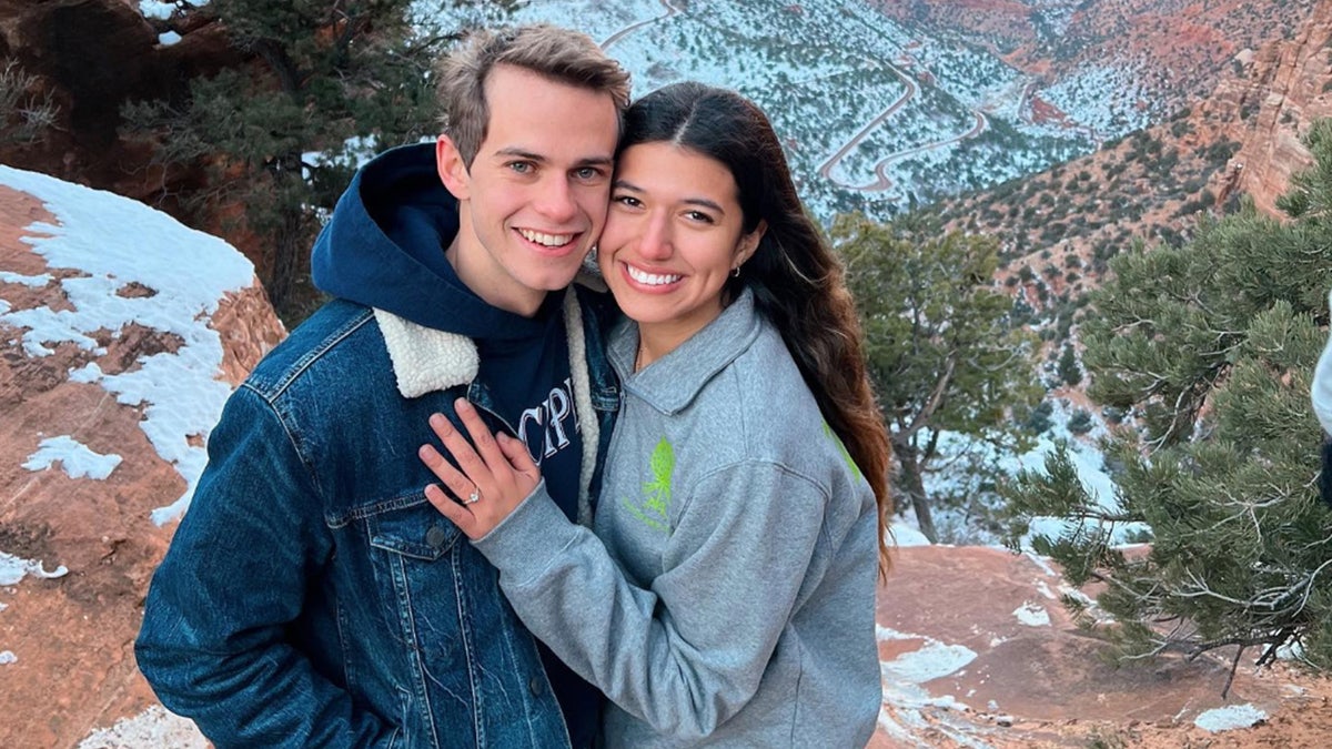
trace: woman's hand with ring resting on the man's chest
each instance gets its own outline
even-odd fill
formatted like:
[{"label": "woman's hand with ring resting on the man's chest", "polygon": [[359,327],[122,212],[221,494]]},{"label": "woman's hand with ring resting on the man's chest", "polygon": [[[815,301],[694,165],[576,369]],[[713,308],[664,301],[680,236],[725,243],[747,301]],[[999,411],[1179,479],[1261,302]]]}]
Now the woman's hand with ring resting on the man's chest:
[{"label": "woman's hand with ring resting on the man's chest", "polygon": [[458,461],[461,470],[450,465],[433,445],[421,445],[417,454],[444,486],[458,497],[454,500],[438,484],[430,484],[425,488],[426,498],[468,538],[476,541],[509,517],[537,488],[541,469],[531,461],[527,445],[521,440],[505,433],[492,434],[466,398],[458,398],[454,409],[468,428],[474,449],[442,413],[430,417],[430,428],[440,437],[444,449]]}]

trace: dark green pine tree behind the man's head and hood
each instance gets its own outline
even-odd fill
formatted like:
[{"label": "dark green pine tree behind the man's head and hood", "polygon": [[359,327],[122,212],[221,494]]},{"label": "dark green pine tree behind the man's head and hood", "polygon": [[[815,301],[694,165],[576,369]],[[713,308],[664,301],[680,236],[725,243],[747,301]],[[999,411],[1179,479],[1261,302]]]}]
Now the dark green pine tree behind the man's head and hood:
[{"label": "dark green pine tree behind the man's head and hood", "polygon": [[244,207],[236,232],[266,248],[265,288],[296,321],[309,312],[301,285],[318,216],[357,160],[434,132],[428,73],[438,39],[414,29],[410,0],[178,5],[172,23],[214,20],[246,63],[192,81],[186,101],[128,105],[125,135],[155,139],[164,165],[212,167],[192,203]]}]

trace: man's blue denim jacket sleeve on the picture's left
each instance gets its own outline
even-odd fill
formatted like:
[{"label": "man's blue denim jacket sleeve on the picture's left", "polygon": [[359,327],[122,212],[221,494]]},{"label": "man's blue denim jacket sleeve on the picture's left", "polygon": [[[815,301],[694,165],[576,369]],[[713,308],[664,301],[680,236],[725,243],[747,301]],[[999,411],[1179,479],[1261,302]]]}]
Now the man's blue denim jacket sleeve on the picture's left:
[{"label": "man's blue denim jacket sleeve on the picture's left", "polygon": [[241,386],[153,576],[135,642],[163,704],[226,746],[388,746],[392,726],[284,632],[330,552],[321,502],[270,405]]}]

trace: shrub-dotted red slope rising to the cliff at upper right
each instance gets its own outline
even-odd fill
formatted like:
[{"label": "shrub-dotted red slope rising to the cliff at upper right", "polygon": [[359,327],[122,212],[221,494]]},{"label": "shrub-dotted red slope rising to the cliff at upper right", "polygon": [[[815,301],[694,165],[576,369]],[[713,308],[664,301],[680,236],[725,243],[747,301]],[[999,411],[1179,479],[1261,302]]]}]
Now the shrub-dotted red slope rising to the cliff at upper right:
[{"label": "shrub-dotted red slope rising to the cliff at upper right", "polygon": [[1046,292],[1038,311],[1062,293],[1060,277],[1074,295],[1095,288],[1106,261],[1134,241],[1184,241],[1199,212],[1231,211],[1241,195],[1279,216],[1276,199],[1311,164],[1301,137],[1332,116],[1332,3],[1283,8],[1304,12],[1269,20],[1285,31],[1236,47],[1207,93],[1181,97],[1168,120],[936,211],[948,228],[998,236],[1010,265],[1002,279],[1026,272],[1024,288]]}]

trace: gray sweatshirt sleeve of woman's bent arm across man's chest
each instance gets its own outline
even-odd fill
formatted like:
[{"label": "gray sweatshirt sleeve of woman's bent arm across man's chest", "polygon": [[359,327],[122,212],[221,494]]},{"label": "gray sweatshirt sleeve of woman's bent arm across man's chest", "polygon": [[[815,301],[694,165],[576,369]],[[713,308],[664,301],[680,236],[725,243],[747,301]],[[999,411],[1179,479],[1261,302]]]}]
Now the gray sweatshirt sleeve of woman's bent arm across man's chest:
[{"label": "gray sweatshirt sleeve of woman's bent arm across man's chest", "polygon": [[743,708],[794,608],[823,526],[807,478],[741,462],[689,490],[650,589],[537,490],[476,546],[523,624],[658,732],[705,737]]}]

